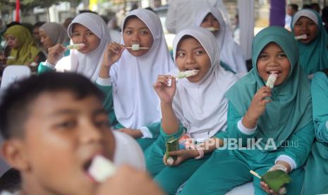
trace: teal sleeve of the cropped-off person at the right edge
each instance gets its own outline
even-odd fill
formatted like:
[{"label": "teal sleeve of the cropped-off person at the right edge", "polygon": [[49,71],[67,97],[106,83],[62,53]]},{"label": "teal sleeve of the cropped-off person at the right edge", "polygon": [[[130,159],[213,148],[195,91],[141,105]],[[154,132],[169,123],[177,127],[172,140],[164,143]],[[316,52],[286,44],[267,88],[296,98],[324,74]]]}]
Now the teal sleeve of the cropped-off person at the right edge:
[{"label": "teal sleeve of the cropped-off person at the right edge", "polygon": [[318,141],[328,143],[328,78],[324,73],[315,73],[311,94],[315,136]]}]

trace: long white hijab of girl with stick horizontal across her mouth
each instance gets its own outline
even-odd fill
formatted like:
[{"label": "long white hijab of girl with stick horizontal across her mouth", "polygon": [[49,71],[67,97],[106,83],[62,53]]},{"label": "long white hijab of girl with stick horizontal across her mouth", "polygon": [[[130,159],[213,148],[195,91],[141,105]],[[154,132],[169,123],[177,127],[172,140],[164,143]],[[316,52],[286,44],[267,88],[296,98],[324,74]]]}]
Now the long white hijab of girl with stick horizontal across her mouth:
[{"label": "long white hijab of girl with stick horizontal across her mouth", "polygon": [[[121,59],[111,66],[110,76],[116,118],[127,128],[138,129],[160,121],[159,98],[152,84],[159,74],[168,73],[176,66],[170,57],[157,14],[146,9],[135,9],[128,13],[126,18],[129,16],[137,16],[147,25],[152,32],[154,43],[141,57],[134,57],[125,50]],[[123,37],[121,44],[125,45]]]}]

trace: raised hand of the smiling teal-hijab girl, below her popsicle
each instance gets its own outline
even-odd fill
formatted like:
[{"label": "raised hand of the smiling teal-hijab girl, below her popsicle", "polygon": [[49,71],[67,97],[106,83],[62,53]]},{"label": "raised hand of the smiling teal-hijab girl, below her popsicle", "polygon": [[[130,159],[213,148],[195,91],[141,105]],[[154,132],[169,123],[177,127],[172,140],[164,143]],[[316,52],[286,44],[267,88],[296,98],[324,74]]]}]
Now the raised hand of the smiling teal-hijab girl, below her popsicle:
[{"label": "raised hand of the smiling teal-hijab girl, below her popsicle", "polygon": [[265,107],[268,102],[271,102],[270,99],[267,99],[271,96],[271,88],[263,86],[260,90],[255,93],[250,107],[248,107],[248,112],[246,113],[248,119],[257,121],[262,114],[265,112]]}]

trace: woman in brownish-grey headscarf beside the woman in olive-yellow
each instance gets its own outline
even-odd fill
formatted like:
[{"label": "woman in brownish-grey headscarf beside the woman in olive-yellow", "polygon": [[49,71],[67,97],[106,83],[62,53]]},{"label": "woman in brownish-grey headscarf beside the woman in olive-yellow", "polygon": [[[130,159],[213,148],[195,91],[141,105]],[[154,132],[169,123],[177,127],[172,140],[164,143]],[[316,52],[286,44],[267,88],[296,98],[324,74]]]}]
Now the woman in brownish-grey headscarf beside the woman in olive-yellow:
[{"label": "woman in brownish-grey headscarf beside the woman in olive-yellow", "polygon": [[[44,23],[39,28],[40,42],[46,51],[49,47],[54,47],[57,43],[66,47],[70,44],[67,30],[59,23]],[[69,55],[69,50],[64,52],[65,56]]]}]

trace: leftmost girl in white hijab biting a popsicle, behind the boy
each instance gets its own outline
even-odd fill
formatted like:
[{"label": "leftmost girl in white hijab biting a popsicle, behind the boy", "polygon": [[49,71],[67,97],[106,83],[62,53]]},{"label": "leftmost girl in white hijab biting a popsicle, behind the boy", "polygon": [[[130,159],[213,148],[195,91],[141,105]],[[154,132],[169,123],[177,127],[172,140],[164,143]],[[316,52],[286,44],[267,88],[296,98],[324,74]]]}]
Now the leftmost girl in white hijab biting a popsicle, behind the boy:
[{"label": "leftmost girl in white hijab biting a popsicle, behind the boy", "polygon": [[72,71],[95,82],[104,50],[111,41],[106,23],[95,13],[81,13],[68,26],[68,36],[73,44],[83,43],[85,47],[71,50],[71,54],[63,58],[66,47],[60,44],[50,47],[47,61],[39,66],[38,72]]}]

